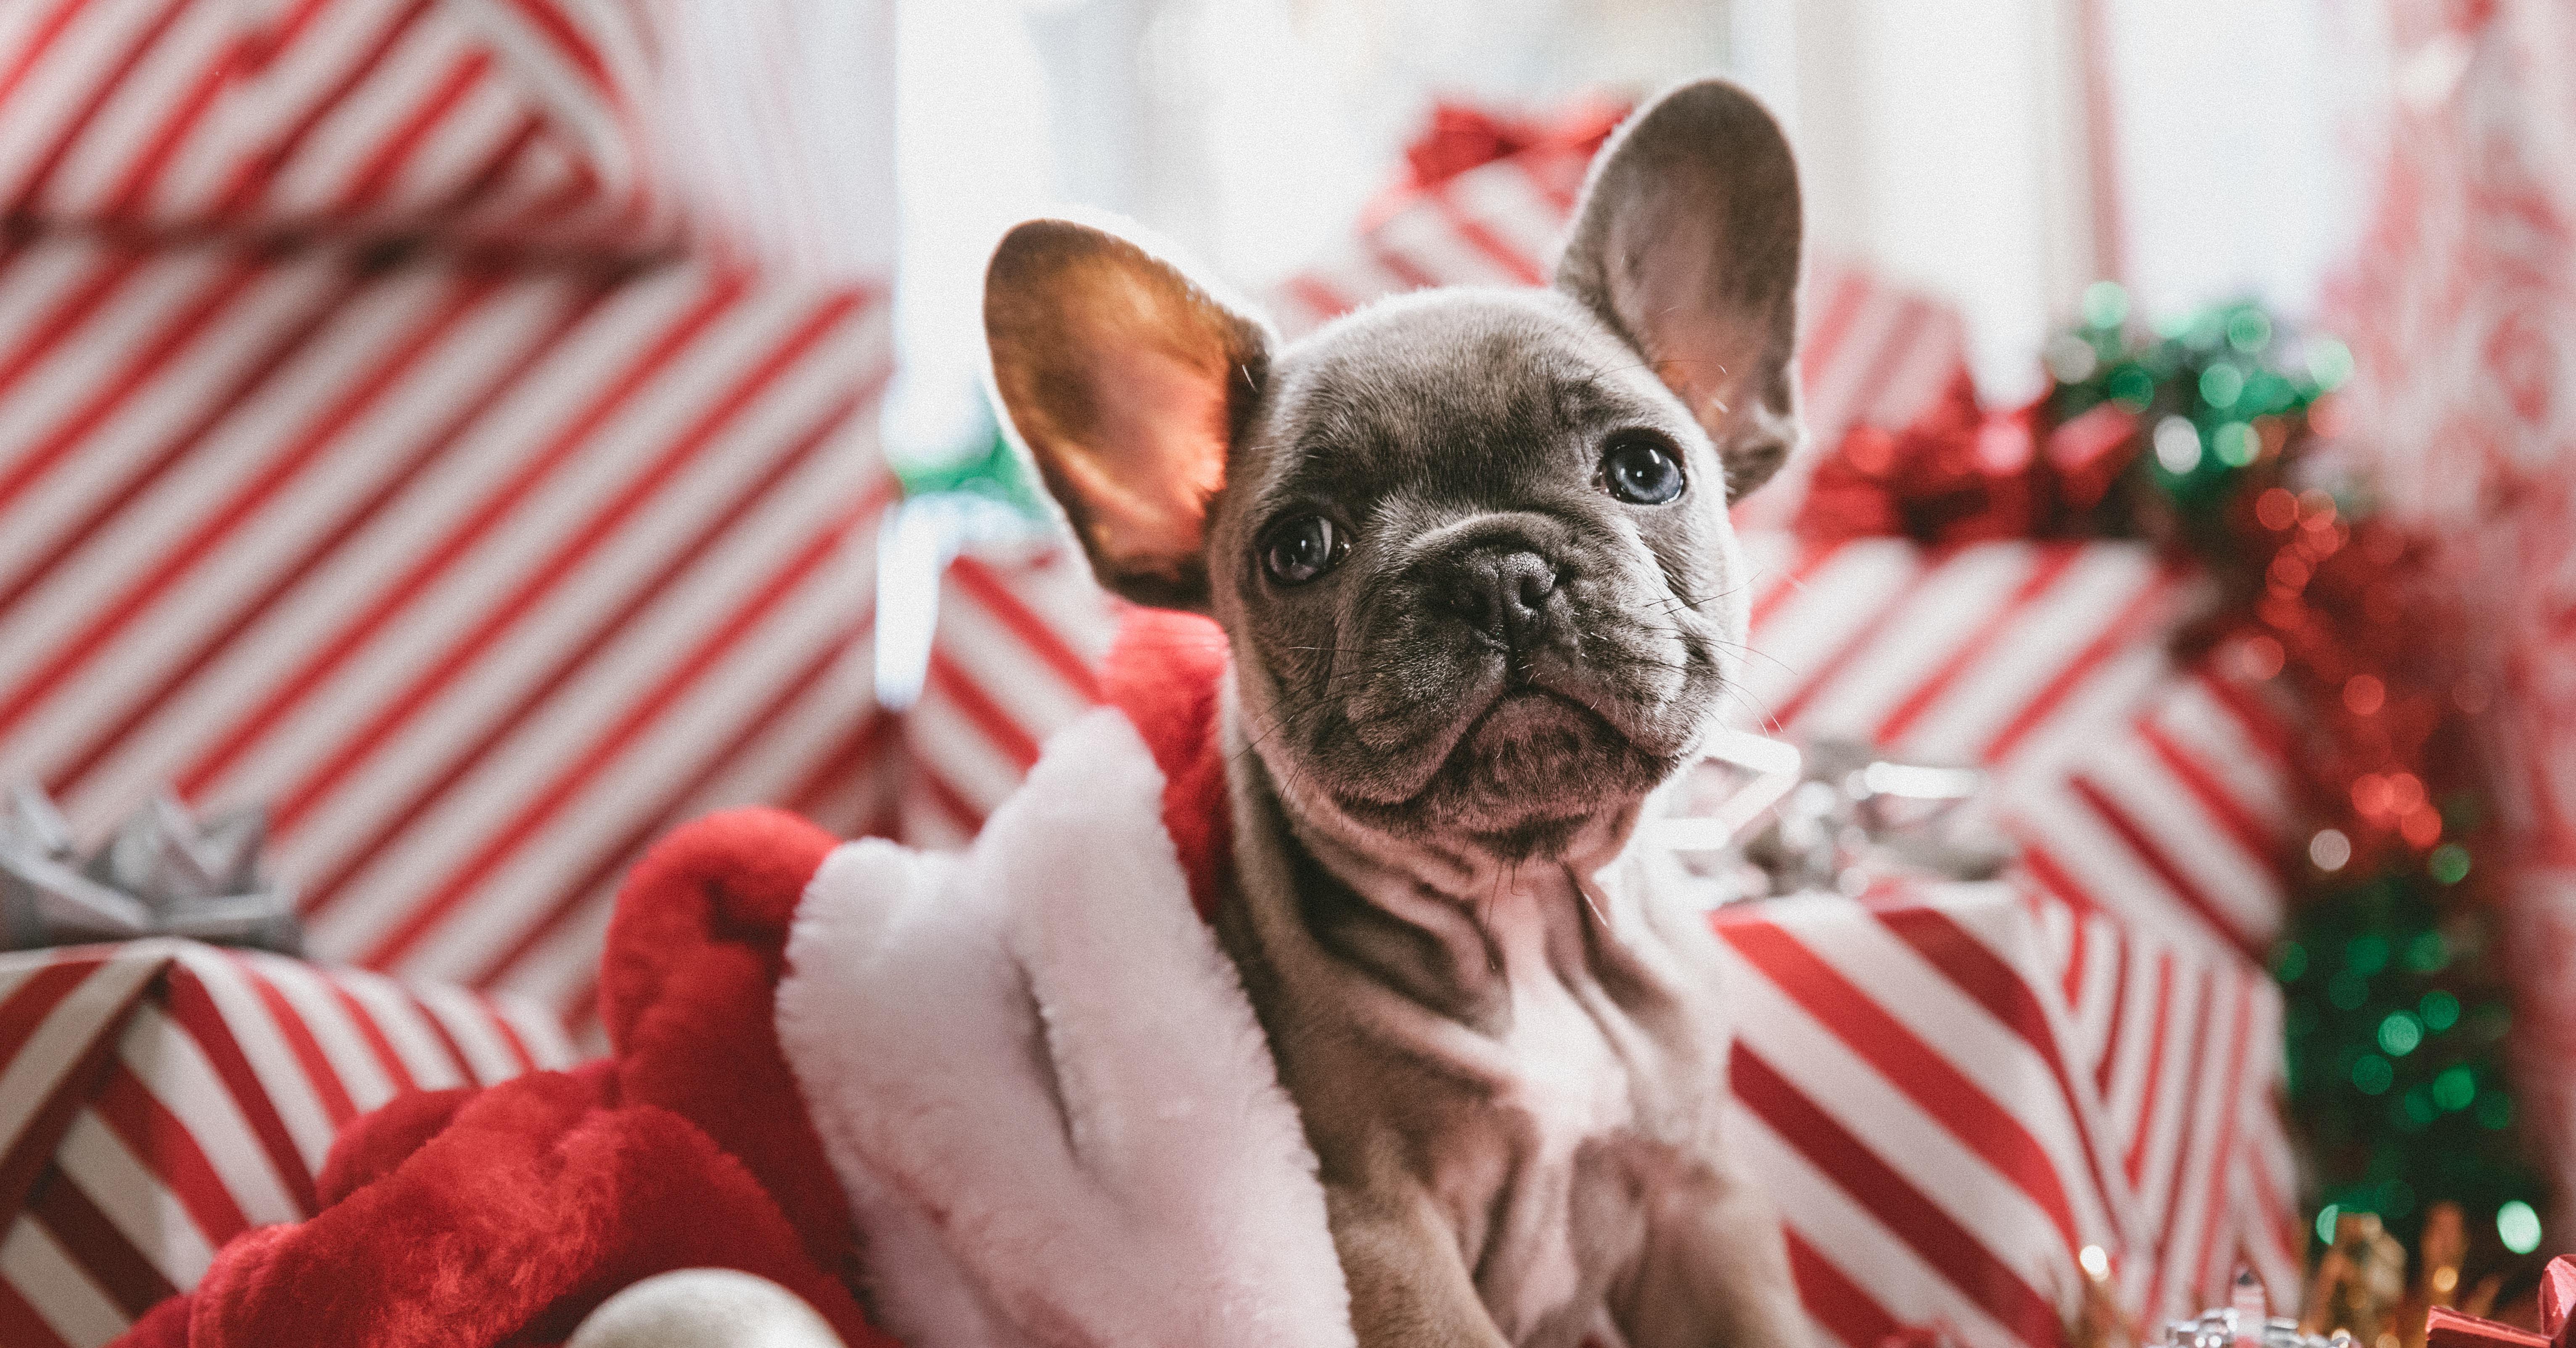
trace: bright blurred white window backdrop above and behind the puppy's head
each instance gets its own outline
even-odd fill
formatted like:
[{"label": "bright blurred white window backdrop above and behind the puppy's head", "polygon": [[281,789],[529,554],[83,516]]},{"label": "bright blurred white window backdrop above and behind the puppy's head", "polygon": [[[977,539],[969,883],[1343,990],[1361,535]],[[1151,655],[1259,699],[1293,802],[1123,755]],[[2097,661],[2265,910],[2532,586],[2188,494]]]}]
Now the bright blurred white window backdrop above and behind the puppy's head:
[{"label": "bright blurred white window backdrop above and behind the puppy's head", "polygon": [[974,368],[989,242],[1048,203],[1260,293],[1347,234],[1435,100],[1726,72],[1790,129],[1811,239],[1953,301],[1981,386],[2027,396],[2092,280],[2313,311],[2367,219],[2388,41],[2375,5],[2298,0],[896,5],[907,381]]}]

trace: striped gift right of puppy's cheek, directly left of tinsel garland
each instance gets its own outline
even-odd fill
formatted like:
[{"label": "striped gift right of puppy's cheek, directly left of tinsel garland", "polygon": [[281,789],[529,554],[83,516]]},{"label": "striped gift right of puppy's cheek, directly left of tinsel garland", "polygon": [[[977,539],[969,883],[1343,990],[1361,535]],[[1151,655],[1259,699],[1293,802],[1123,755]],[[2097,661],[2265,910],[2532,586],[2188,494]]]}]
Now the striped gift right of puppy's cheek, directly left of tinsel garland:
[{"label": "striped gift right of puppy's cheek, directly left of tinsel garland", "polygon": [[1981,764],[2048,888],[2159,931],[2272,942],[2287,736],[2259,697],[2172,661],[2190,571],[2143,543],[1762,535],[1749,556],[1757,723]]}]

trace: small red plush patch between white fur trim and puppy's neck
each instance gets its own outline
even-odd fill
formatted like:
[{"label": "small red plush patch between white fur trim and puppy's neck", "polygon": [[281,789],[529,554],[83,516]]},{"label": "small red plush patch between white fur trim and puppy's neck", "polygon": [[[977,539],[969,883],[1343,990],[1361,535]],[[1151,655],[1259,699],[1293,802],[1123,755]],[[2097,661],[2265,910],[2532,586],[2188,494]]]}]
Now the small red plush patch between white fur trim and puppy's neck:
[{"label": "small red plush patch between white fur trim and puppy's neck", "polygon": [[1200,918],[1216,916],[1234,854],[1226,751],[1216,736],[1224,677],[1224,628],[1193,612],[1131,610],[1100,679],[1162,769],[1162,826],[1172,833]]}]

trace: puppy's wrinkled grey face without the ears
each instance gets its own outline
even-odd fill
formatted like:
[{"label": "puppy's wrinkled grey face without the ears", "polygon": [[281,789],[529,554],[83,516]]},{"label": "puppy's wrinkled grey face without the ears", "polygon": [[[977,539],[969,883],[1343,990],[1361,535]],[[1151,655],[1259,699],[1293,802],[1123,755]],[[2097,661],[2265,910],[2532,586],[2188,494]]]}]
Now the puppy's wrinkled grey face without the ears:
[{"label": "puppy's wrinkled grey face without the ears", "polygon": [[1669,777],[1741,638],[1716,448],[1548,291],[1432,291],[1283,352],[1208,556],[1278,774],[1507,857]]}]

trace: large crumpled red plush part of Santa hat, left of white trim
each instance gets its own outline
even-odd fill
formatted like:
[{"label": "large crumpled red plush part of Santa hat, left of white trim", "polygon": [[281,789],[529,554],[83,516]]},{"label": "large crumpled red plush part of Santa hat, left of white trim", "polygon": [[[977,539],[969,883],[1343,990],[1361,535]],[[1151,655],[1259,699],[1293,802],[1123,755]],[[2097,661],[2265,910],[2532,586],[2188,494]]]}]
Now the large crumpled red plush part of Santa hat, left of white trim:
[{"label": "large crumpled red plush part of Santa hat, left of white trim", "polygon": [[850,1297],[855,1232],[770,1011],[829,849],[778,810],[675,831],[618,895],[611,1060],[371,1114],[332,1147],[322,1214],[229,1243],[121,1343],[541,1345],[652,1273],[742,1268],[850,1348],[891,1345]]}]

